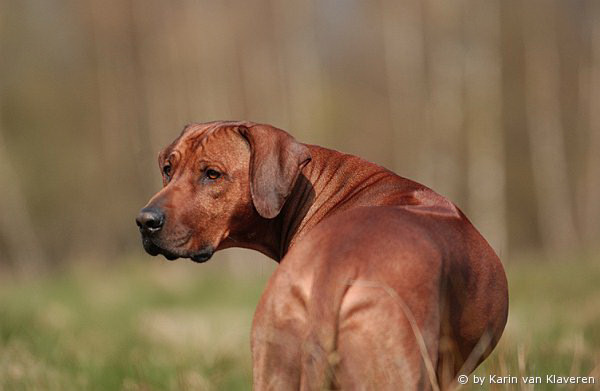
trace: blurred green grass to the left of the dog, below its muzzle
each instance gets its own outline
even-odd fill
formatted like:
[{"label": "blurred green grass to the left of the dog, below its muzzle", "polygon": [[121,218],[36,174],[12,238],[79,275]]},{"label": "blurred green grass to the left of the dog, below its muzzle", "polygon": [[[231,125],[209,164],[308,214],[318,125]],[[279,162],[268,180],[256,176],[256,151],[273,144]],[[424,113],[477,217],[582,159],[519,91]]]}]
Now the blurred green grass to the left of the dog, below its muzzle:
[{"label": "blurred green grass to the left of the dog, below its muzzle", "polygon": [[218,266],[138,259],[2,281],[0,389],[248,389],[269,273]]}]

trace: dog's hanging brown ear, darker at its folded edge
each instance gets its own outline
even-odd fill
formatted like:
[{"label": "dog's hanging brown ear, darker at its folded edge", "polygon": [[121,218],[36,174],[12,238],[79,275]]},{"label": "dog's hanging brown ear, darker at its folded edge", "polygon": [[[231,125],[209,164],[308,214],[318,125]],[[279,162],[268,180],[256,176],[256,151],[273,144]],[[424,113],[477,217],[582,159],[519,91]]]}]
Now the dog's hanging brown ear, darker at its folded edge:
[{"label": "dog's hanging brown ear, darker at its folded edge", "polygon": [[279,214],[292,192],[310,152],[281,129],[270,125],[240,126],[250,144],[250,191],[258,213],[267,219]]}]

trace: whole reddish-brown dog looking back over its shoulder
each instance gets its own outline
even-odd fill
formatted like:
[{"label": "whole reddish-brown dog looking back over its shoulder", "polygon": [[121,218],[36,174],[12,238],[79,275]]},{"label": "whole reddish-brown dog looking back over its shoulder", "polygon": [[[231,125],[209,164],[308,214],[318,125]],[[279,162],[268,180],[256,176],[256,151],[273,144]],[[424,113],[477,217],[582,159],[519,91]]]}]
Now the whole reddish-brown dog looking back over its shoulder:
[{"label": "whole reddish-brown dog looking back over its shoulder", "polygon": [[189,125],[159,165],[137,218],[147,252],[281,263],[254,317],[255,389],[446,388],[500,338],[502,264],[427,187],[250,122]]}]

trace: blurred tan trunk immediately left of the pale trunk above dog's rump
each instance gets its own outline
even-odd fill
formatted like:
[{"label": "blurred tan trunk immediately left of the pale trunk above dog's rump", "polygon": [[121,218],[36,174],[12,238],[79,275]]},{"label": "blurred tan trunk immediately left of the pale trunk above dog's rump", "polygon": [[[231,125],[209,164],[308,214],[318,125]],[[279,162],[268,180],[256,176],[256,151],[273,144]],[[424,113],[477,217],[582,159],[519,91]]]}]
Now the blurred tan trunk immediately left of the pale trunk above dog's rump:
[{"label": "blurred tan trunk immediately left of the pale trunk above dog's rump", "polygon": [[[421,130],[429,138],[427,151],[433,171],[426,183],[460,204],[464,172],[464,1],[428,0],[426,36],[428,88],[426,110],[430,121]],[[433,158],[434,157],[434,158]],[[427,168],[427,167],[424,167]]]}]

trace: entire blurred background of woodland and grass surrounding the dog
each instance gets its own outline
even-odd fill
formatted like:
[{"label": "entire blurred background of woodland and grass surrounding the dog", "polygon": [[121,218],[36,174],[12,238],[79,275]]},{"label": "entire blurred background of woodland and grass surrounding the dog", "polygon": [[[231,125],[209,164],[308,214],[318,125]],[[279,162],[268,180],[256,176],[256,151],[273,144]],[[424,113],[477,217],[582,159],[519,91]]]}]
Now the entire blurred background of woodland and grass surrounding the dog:
[{"label": "entire blurred background of woodland and grass surrounding the dog", "polygon": [[600,372],[599,1],[0,0],[0,388],[249,387],[274,263],[167,264],[134,225],[216,119],[449,197],[511,282],[483,370]]}]

